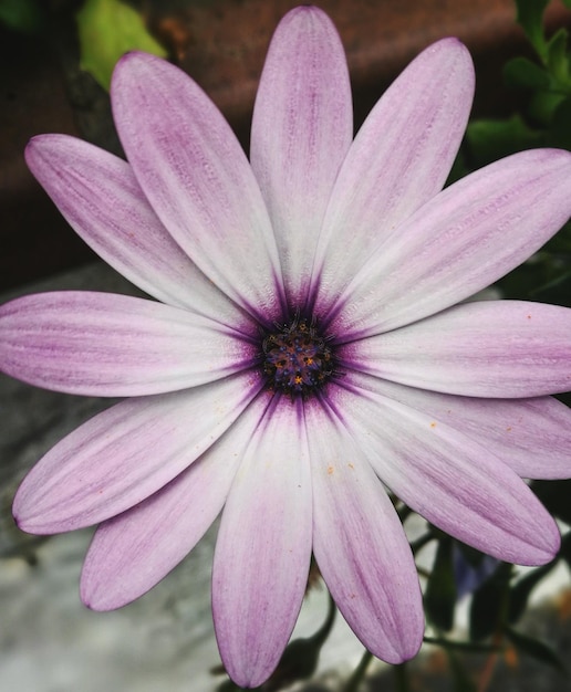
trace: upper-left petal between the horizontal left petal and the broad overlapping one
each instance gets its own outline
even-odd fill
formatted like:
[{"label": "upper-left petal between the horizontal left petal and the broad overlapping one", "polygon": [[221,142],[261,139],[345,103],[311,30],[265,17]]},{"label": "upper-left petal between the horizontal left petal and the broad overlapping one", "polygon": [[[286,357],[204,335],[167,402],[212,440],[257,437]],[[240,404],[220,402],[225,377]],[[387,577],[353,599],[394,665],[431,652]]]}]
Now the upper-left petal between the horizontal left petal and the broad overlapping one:
[{"label": "upper-left petal between the horizontal left petal and the broad overlapping one", "polygon": [[163,303],[239,322],[237,306],[160,223],[128,164],[68,135],[34,137],[25,160],[70,226],[123,276]]}]

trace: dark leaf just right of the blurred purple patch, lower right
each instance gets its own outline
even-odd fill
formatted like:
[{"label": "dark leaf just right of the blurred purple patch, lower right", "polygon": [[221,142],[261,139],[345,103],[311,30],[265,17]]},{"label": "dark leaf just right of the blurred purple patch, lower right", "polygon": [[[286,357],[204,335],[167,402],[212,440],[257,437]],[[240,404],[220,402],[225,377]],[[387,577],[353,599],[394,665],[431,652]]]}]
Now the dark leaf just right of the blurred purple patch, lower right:
[{"label": "dark leaf just right of the blurred purple patch, lower right", "polygon": [[470,607],[470,639],[492,635],[503,618],[512,566],[502,563],[479,589],[474,591]]}]

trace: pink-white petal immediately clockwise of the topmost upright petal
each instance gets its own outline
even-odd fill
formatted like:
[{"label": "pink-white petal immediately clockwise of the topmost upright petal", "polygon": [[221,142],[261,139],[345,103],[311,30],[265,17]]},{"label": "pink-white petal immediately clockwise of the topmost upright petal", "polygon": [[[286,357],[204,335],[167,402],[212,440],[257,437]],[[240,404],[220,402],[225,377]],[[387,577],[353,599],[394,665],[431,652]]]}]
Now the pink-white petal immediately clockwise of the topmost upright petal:
[{"label": "pink-white petal immediately clockwise of the topmost upright petal", "polygon": [[464,45],[426,49],[373,108],[343,164],[321,237],[314,280],[331,307],[396,227],[440,191],[468,122],[474,67]]}]

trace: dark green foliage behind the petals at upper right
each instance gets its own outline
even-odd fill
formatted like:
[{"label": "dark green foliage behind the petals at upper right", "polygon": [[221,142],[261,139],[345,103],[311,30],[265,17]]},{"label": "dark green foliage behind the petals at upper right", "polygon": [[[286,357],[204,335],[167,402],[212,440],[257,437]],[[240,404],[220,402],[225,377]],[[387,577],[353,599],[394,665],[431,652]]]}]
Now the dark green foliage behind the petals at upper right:
[{"label": "dark green foliage behind the petals at upper right", "polygon": [[[522,107],[508,118],[476,119],[455,164],[451,179],[503,156],[533,147],[571,150],[571,51],[569,31],[548,36],[543,25],[549,0],[516,0],[517,21],[533,50],[503,66],[506,87],[516,90]],[[571,0],[564,0],[571,8]],[[528,262],[497,284],[503,297],[571,306],[571,223]]]}]

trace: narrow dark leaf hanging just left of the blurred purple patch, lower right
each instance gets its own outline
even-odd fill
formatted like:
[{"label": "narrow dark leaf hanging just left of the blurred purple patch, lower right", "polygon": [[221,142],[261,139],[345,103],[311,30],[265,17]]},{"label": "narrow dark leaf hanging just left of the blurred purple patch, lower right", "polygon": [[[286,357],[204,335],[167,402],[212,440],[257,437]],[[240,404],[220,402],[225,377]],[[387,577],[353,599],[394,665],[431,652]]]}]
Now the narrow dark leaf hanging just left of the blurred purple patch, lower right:
[{"label": "narrow dark leaf hanging just left of the blurred purple patch, lower right", "polygon": [[435,627],[447,632],[454,625],[455,606],[453,542],[445,538],[438,542],[433,569],[426,585],[424,595],[426,617]]}]

